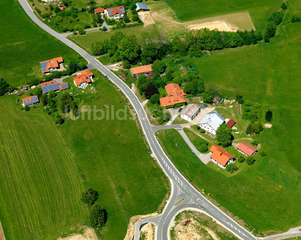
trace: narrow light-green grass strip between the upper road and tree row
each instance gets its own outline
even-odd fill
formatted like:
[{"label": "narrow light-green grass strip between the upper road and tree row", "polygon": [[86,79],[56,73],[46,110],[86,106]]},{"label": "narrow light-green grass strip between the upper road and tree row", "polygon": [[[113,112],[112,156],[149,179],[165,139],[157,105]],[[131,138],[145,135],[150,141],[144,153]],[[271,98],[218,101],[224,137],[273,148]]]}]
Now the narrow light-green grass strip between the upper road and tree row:
[{"label": "narrow light-green grass strip between the upper road and tree row", "polygon": [[120,31],[124,35],[131,35],[134,34],[137,37],[140,37],[140,34],[142,32],[149,32],[152,29],[154,29],[156,26],[154,24],[147,25],[147,26],[137,26],[137,27],[132,27],[128,29],[119,29],[119,30],[113,30],[110,32],[102,32],[99,30],[87,32],[85,35],[71,35],[68,38],[76,43],[79,47],[82,47],[84,50],[86,50],[88,53],[91,53],[91,44],[95,40],[104,40],[104,39],[109,39],[110,36],[116,32]]}]

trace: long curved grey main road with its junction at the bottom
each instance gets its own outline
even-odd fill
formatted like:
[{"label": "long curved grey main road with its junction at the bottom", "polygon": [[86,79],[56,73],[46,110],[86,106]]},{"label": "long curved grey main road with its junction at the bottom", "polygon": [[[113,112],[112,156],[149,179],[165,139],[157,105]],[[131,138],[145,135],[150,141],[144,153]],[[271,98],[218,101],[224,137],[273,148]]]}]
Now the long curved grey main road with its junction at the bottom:
[{"label": "long curved grey main road with its junction at the bottom", "polygon": [[[200,211],[205,212],[212,218],[214,218],[216,221],[221,223],[223,226],[225,226],[227,229],[229,229],[231,232],[233,232],[235,235],[237,235],[241,239],[247,239],[247,240],[255,240],[256,238],[250,234],[246,229],[244,229],[242,226],[240,226],[237,222],[235,222],[233,219],[228,217],[224,212],[222,212],[219,208],[217,208],[215,205],[213,205],[208,199],[206,199],[205,196],[203,196],[200,192],[198,192],[173,166],[169,158],[165,155],[164,151],[162,150],[159,142],[154,136],[154,131],[157,130],[156,127],[151,126],[147,119],[147,115],[141,106],[141,103],[138,101],[137,96],[131,91],[131,89],[119,79],[114,73],[112,73],[110,70],[108,70],[104,65],[102,65],[98,60],[94,59],[92,56],[90,56],[88,53],[86,53],[84,50],[82,50],[80,47],[78,47],[73,42],[69,41],[65,38],[64,34],[60,34],[55,32],[53,29],[45,25],[41,20],[39,20],[38,17],[33,13],[32,8],[29,6],[28,2],[26,0],[18,0],[20,2],[20,5],[23,7],[25,12],[28,14],[28,16],[33,20],[34,23],[36,23],[39,27],[44,29],[46,32],[54,36],[55,38],[59,39],[63,43],[65,43],[67,46],[71,47],[73,50],[75,50],[77,53],[79,53],[81,56],[83,56],[90,65],[93,65],[96,69],[101,71],[104,75],[107,75],[108,78],[116,84],[120,90],[123,91],[123,93],[127,96],[129,101],[132,103],[133,107],[136,110],[136,113],[138,115],[138,118],[140,120],[141,126],[144,130],[144,134],[151,146],[151,149],[155,156],[157,157],[157,161],[160,164],[163,171],[166,173],[166,175],[169,177],[171,184],[172,184],[172,194],[171,197],[166,204],[164,211],[162,214],[140,220],[135,225],[135,236],[134,239],[139,239],[139,228],[141,224],[152,222],[157,225],[157,239],[158,240],[167,240],[168,239],[168,232],[169,232],[169,224],[172,222],[173,217],[175,214],[185,208],[196,208]],[[172,128],[178,128],[182,129],[182,126],[172,126]],[[185,197],[185,201],[181,204],[174,206],[175,203]]]}]

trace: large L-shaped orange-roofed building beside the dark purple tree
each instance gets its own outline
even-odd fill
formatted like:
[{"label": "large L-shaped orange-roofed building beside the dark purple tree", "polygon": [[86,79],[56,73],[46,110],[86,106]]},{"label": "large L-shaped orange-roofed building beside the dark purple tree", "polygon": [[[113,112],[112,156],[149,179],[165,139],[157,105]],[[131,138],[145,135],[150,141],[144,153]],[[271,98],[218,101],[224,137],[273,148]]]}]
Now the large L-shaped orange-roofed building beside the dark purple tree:
[{"label": "large L-shaped orange-roofed building beside the dark purple tree", "polygon": [[166,97],[160,98],[161,107],[172,108],[175,107],[176,104],[185,104],[186,93],[180,89],[179,85],[176,83],[170,83],[165,86],[165,90],[167,93]]}]

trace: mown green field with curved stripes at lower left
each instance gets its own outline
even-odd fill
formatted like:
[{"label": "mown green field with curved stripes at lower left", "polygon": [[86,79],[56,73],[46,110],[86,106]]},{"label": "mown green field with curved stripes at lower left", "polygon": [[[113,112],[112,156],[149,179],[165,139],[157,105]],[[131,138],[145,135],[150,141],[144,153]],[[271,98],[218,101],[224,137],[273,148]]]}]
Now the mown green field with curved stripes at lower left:
[{"label": "mown green field with curved stripes at lower left", "polygon": [[0,219],[6,240],[56,239],[88,221],[84,189],[57,127],[43,109],[0,99]]}]

